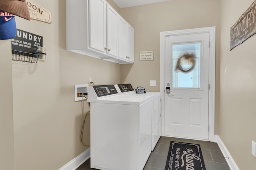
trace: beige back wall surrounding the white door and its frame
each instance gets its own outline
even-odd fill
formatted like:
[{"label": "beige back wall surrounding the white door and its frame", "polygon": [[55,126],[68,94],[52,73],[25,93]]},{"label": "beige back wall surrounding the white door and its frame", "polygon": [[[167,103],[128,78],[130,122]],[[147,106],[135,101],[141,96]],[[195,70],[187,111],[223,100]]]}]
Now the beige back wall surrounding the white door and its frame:
[{"label": "beige back wall surrounding the white door and its frame", "polygon": [[[121,66],[121,82],[160,91],[160,32],[216,26],[215,133],[218,134],[220,3],[219,0],[171,0],[120,9],[134,27],[134,64]],[[140,61],[140,51],[154,51],[154,61]],[[150,87],[156,80],[156,87]]]}]

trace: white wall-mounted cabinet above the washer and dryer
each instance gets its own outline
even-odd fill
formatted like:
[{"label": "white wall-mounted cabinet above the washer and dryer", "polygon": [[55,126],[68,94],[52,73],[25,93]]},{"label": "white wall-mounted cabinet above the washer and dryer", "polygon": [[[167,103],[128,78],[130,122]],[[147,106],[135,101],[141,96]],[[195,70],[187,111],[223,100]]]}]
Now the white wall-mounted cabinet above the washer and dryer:
[{"label": "white wall-mounted cabinet above the washer and dryer", "polygon": [[66,49],[115,63],[133,63],[134,47],[128,50],[128,43],[134,44],[130,42],[134,35],[128,38],[128,23],[122,21],[106,0],[66,0]]}]

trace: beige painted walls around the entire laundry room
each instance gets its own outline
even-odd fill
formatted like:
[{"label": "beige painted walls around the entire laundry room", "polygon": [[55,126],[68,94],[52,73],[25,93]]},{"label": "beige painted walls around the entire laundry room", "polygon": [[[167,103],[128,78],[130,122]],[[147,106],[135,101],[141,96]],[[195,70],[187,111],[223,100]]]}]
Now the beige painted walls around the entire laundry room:
[{"label": "beige painted walls around the entire laundry room", "polygon": [[[45,62],[11,61],[10,40],[0,40],[0,149],[5,150],[0,153],[0,169],[56,170],[64,166],[88,149],[80,143],[79,133],[89,107],[84,102],[82,110],[82,102],[74,102],[74,84],[88,84],[92,77],[95,84],[132,83],[159,91],[160,32],[210,26],[216,26],[215,132],[240,170],[254,169],[256,35],[229,51],[230,27],[252,1],[171,0],[122,9],[112,0],[108,2],[135,29],[134,64],[120,65],[66,51],[63,0],[37,1],[52,12],[51,24],[16,17],[18,29],[43,36]],[[139,61],[140,51],[151,50],[154,61]],[[150,87],[149,80],[156,80],[156,87]],[[86,143],[90,142],[89,127],[87,121]]]}]

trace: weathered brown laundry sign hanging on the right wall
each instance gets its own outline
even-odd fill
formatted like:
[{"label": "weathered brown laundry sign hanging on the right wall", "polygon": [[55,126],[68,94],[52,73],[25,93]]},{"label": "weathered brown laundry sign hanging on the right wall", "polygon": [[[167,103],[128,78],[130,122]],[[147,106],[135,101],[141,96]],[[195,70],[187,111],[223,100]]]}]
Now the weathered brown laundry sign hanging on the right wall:
[{"label": "weathered brown laundry sign hanging on the right wall", "polygon": [[230,28],[230,50],[256,33],[256,0]]}]

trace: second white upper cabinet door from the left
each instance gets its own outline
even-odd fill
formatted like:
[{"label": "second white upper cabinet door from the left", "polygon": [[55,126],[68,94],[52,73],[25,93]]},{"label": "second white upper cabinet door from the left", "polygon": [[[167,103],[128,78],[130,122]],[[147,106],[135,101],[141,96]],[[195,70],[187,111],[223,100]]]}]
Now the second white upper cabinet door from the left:
[{"label": "second white upper cabinet door from the left", "polygon": [[106,53],[118,57],[118,13],[107,4],[107,49]]}]

